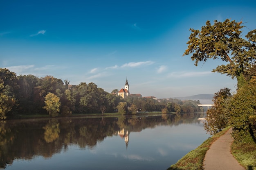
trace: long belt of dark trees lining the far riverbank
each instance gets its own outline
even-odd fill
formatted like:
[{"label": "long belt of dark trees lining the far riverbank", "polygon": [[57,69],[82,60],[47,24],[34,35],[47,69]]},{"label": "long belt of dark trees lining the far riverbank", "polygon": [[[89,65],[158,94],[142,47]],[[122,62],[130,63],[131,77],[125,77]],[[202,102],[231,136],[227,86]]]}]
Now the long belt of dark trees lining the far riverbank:
[{"label": "long belt of dark trees lining the far riverbank", "polygon": [[49,116],[71,116],[86,113],[132,113],[137,111],[198,112],[199,100],[143,98],[117,95],[94,83],[82,82],[70,85],[68,80],[45,76],[19,75],[7,68],[0,68],[0,119],[20,115],[49,114]]}]

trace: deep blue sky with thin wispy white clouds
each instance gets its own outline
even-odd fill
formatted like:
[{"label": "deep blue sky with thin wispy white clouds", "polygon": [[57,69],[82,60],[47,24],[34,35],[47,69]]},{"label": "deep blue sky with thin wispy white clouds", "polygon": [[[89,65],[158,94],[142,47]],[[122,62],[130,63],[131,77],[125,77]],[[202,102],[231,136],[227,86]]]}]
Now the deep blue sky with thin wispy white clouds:
[{"label": "deep blue sky with thin wispy white clouds", "polygon": [[196,67],[182,54],[189,28],[229,18],[246,35],[255,11],[254,0],[0,0],[0,68],[107,92],[127,77],[130,93],[157,98],[234,91],[236,79],[211,72],[221,61]]}]

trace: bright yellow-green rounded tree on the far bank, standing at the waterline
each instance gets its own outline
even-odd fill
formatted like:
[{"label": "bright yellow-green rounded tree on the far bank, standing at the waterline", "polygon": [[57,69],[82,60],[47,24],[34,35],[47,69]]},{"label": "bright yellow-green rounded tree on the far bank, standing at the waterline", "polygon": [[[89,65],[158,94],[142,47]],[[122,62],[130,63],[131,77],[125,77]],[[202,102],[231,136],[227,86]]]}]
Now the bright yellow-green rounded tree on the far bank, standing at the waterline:
[{"label": "bright yellow-green rounded tree on the far bank, standing at the waterline", "polygon": [[55,94],[48,93],[45,96],[45,106],[43,107],[49,113],[50,116],[56,117],[60,112],[60,98]]}]

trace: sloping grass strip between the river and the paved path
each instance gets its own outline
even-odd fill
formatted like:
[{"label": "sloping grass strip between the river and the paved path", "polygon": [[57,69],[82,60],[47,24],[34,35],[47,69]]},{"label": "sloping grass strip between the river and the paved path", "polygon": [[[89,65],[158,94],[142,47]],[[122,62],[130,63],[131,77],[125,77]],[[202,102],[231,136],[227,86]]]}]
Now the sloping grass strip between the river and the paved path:
[{"label": "sloping grass strip between the river and the paved path", "polygon": [[198,148],[187,153],[167,170],[203,170],[203,161],[207,150],[209,150],[211,144],[226,133],[229,128],[230,126],[226,127],[216,135],[204,141]]}]

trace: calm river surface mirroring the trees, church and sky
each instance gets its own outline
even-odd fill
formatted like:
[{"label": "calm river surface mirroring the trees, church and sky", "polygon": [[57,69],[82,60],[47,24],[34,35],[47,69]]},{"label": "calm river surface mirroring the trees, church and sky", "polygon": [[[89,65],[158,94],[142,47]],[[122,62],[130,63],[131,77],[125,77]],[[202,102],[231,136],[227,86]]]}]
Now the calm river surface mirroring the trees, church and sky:
[{"label": "calm river surface mirroring the trees, church and sky", "polygon": [[202,116],[2,121],[0,168],[166,170],[209,137]]}]

